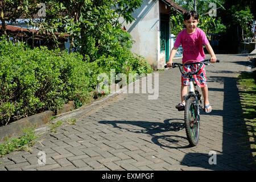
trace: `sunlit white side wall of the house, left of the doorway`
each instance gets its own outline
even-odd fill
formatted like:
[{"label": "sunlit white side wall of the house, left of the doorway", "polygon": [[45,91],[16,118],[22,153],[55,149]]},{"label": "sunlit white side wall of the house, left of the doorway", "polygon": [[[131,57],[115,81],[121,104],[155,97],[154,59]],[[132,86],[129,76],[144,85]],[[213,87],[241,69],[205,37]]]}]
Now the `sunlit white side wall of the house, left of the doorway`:
[{"label": "sunlit white side wall of the house, left of the doorway", "polygon": [[135,10],[132,16],[135,20],[129,24],[119,19],[135,40],[131,51],[145,57],[148,63],[157,69],[160,48],[158,0],[144,0],[142,6]]}]

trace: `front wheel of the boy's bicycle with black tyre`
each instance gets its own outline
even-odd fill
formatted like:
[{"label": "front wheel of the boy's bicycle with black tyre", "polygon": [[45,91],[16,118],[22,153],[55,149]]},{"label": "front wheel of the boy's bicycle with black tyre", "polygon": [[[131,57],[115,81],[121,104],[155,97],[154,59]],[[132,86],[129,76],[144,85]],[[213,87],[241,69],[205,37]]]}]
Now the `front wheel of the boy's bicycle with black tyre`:
[{"label": "front wheel of the boy's bicycle with black tyre", "polygon": [[199,121],[197,121],[197,106],[193,98],[189,98],[185,105],[185,129],[191,146],[199,141]]}]

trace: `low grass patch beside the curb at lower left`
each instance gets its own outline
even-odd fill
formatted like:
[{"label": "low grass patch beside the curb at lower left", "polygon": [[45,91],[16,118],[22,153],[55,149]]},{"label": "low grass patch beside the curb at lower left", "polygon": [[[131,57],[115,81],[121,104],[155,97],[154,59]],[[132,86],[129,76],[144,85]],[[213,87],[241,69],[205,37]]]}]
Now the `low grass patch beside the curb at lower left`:
[{"label": "low grass patch beside the curb at lower left", "polygon": [[29,151],[29,147],[36,143],[33,140],[38,138],[38,136],[35,135],[34,127],[27,127],[22,129],[22,131],[23,134],[20,137],[13,139],[7,137],[6,142],[0,145],[0,157],[13,151]]}]

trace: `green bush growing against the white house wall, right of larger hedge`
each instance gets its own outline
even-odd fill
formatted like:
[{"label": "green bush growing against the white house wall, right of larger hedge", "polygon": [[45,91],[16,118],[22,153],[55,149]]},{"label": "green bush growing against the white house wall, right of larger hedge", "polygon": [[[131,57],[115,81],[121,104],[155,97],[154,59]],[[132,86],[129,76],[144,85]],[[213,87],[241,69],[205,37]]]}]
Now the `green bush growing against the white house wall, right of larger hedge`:
[{"label": "green bush growing against the white house wall, right of larger hedge", "polygon": [[[110,69],[115,69],[115,73],[142,73],[152,72],[152,68],[147,61],[136,54],[133,54],[130,49],[133,44],[131,35],[121,28],[109,28],[109,34],[101,37],[101,46],[98,50],[101,55],[96,60],[98,66],[104,69],[104,72],[109,73]],[[112,35],[112,36],[110,36]]]}]

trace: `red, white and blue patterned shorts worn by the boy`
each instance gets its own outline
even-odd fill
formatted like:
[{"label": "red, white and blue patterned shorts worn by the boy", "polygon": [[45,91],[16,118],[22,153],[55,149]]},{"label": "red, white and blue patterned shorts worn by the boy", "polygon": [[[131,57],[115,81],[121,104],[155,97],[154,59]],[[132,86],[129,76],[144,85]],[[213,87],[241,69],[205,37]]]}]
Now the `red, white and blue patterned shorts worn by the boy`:
[{"label": "red, white and blue patterned shorts worn by the boy", "polygon": [[[185,72],[196,72],[197,68],[200,66],[200,64],[192,64],[192,65],[185,65],[183,67]],[[207,80],[206,80],[206,75],[205,75],[205,65],[201,67],[199,72],[196,75],[193,75],[196,84],[199,87],[205,87],[207,86]],[[186,76],[181,75],[181,85],[189,85],[189,80]]]}]

